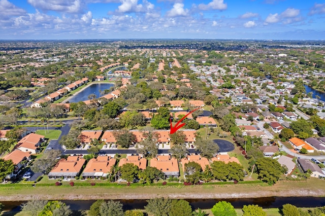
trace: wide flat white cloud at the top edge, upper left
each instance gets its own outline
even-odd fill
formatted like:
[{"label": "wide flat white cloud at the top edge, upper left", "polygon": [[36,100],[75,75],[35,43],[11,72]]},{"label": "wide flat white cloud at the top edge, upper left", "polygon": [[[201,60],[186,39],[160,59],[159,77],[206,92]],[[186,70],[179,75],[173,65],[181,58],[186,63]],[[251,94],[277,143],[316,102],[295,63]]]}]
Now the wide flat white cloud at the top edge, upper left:
[{"label": "wide flat white cloud at the top edge, upper left", "polygon": [[79,13],[82,10],[80,0],[27,0],[27,2],[42,11]]}]

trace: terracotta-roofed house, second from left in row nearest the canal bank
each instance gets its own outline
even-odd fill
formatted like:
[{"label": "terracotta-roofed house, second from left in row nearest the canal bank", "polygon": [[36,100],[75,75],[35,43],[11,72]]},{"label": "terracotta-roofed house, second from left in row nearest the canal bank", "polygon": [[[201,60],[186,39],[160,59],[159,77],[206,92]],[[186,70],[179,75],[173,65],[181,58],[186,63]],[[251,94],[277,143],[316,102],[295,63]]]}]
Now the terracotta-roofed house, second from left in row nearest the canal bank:
[{"label": "terracotta-roofed house, second from left in row nearest the canal bank", "polygon": [[111,156],[98,156],[97,158],[92,158],[87,163],[81,175],[85,178],[106,177],[111,173],[111,169],[115,163],[116,159],[111,158]]}]

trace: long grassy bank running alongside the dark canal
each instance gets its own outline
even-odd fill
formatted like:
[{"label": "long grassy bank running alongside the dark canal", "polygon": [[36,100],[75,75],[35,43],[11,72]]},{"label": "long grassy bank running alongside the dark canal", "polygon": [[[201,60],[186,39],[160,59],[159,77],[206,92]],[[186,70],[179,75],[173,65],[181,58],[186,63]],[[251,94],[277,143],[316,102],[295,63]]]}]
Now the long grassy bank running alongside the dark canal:
[{"label": "long grassy bank running alongside the dark canal", "polygon": [[[49,180],[47,180],[49,181]],[[42,181],[41,181],[42,182]],[[40,183],[41,183],[40,182]],[[96,184],[90,186],[90,181],[74,181],[74,187],[69,182],[62,186],[55,186],[55,180],[48,184],[36,184],[36,187],[18,187],[20,184],[0,185],[0,201],[30,200],[30,199],[150,199],[154,197],[170,197],[174,199],[227,199],[227,198],[256,198],[256,197],[295,197],[295,196],[323,196],[325,184],[320,179],[310,178],[306,181],[279,181],[273,186],[267,184],[231,184],[231,185],[201,185],[184,186],[182,184],[167,183],[163,185]],[[95,181],[100,183],[100,181]]]}]

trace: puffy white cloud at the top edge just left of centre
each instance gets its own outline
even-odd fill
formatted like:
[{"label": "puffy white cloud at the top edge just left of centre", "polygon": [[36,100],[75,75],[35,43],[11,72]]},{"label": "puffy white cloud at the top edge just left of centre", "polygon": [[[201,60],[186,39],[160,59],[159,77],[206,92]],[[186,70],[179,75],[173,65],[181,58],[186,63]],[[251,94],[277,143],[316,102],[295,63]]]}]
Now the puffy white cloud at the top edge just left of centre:
[{"label": "puffy white cloud at the top edge just left of centre", "polygon": [[146,12],[154,9],[154,5],[147,0],[143,0],[143,4],[139,5],[138,0],[121,0],[121,3],[117,10],[120,13]]}]

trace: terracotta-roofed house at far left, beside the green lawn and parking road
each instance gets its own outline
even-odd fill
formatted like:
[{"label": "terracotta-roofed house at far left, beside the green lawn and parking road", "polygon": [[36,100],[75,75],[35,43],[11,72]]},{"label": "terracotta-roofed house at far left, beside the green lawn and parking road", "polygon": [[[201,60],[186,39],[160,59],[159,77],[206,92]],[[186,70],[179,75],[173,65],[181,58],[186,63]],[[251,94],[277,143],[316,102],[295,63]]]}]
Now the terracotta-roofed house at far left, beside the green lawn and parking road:
[{"label": "terracotta-roofed house at far left, beside the green lawn and parking road", "polygon": [[22,152],[30,152],[31,154],[36,154],[39,152],[39,146],[43,141],[44,136],[36,133],[29,133],[18,141],[16,148]]}]

